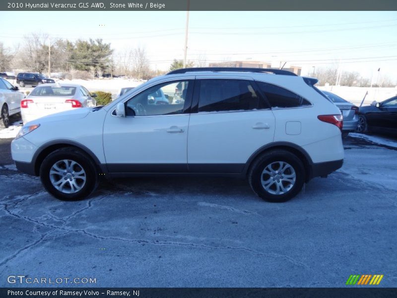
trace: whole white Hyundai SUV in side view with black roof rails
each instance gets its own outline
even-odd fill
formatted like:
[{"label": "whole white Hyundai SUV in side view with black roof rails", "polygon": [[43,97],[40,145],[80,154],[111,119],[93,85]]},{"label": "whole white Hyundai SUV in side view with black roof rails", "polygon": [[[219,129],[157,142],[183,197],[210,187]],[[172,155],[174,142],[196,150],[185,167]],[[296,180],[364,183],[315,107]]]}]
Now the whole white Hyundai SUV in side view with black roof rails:
[{"label": "whole white Hyundai SUV in side view with black roof rails", "polygon": [[[284,202],[343,163],[342,116],[316,82],[282,70],[177,70],[106,106],[25,124],[12,158],[61,200],[87,197],[103,175],[215,174],[247,177],[259,197]],[[153,100],[161,93],[168,102]]]}]

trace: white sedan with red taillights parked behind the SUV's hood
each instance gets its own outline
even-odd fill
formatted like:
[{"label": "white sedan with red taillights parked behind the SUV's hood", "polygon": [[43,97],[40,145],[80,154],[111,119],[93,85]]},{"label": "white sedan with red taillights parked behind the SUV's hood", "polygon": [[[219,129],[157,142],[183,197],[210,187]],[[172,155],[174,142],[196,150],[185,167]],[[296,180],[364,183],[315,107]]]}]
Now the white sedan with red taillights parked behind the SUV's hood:
[{"label": "white sedan with red taillights parked behind the SUV's hood", "polygon": [[22,122],[74,108],[96,106],[96,94],[76,84],[42,84],[21,101]]}]

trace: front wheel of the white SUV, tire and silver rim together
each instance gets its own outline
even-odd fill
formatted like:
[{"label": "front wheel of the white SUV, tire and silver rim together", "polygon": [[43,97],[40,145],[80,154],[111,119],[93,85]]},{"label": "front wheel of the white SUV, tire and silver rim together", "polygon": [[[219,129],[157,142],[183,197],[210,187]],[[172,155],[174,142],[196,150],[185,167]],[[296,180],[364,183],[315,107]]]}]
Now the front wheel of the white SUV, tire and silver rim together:
[{"label": "front wheel of the white SUV, tire and silver rim together", "polygon": [[50,194],[65,201],[85,199],[98,184],[98,173],[91,158],[71,147],[50,153],[41,164],[40,178]]}]

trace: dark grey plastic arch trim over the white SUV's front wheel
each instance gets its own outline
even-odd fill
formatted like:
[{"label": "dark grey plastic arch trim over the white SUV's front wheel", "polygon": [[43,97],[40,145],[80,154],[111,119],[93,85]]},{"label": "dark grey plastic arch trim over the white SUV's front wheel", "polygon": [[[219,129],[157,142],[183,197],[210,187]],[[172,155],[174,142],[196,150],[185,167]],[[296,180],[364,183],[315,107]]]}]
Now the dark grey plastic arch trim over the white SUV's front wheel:
[{"label": "dark grey plastic arch trim over the white SUV's front wheel", "polygon": [[40,166],[41,166],[44,158],[46,158],[46,156],[48,156],[50,153],[54,152],[55,150],[65,148],[65,147],[74,147],[74,148],[77,148],[77,149],[83,151],[92,159],[92,161],[96,165],[98,171],[100,171],[100,172],[106,171],[105,166],[99,161],[98,157],[84,145],[79,144],[77,142],[69,141],[69,140],[58,140],[55,142],[46,143],[46,144],[40,146],[40,148],[36,150],[36,153],[34,154],[33,159],[32,159],[33,163],[34,163],[34,174],[36,176],[39,175]]}]

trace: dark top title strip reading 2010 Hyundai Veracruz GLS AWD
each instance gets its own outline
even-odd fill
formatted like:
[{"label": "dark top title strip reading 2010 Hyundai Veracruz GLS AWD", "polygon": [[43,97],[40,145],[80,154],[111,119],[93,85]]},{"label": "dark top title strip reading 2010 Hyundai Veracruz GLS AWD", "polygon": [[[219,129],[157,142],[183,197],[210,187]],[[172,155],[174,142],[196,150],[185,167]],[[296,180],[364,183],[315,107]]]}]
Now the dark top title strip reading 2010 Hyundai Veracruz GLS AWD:
[{"label": "dark top title strip reading 2010 Hyundai Veracruz GLS AWD", "polygon": [[[110,3],[125,4],[111,7]],[[314,11],[314,10],[397,10],[396,0],[190,0],[191,11]],[[13,4],[8,4],[13,3]],[[30,4],[40,4],[35,6]],[[58,6],[55,4],[70,4]],[[102,3],[102,4],[101,4]],[[128,3],[134,5],[129,7]],[[19,4],[22,4],[20,7]],[[131,5],[131,4],[130,4]],[[188,0],[4,0],[0,1],[0,10],[44,10],[44,11],[161,11],[187,10]]]}]

